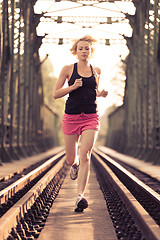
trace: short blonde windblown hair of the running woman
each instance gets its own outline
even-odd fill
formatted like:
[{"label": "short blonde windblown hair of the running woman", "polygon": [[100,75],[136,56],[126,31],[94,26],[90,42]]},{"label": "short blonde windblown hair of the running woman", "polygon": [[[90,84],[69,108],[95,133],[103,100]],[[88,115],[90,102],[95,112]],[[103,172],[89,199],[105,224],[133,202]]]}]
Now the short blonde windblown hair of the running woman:
[{"label": "short blonde windblown hair of the running woman", "polygon": [[91,52],[92,52],[92,54],[93,54],[93,52],[94,52],[94,50],[95,50],[93,45],[97,42],[97,40],[94,39],[94,38],[92,38],[90,35],[86,35],[86,36],[84,36],[84,37],[82,37],[82,38],[79,38],[79,39],[75,40],[73,46],[72,46],[71,49],[70,49],[71,53],[72,53],[73,55],[76,55],[76,54],[77,54],[77,44],[78,44],[80,41],[86,41],[86,42],[88,42],[88,43],[90,44],[90,46],[91,46]]}]

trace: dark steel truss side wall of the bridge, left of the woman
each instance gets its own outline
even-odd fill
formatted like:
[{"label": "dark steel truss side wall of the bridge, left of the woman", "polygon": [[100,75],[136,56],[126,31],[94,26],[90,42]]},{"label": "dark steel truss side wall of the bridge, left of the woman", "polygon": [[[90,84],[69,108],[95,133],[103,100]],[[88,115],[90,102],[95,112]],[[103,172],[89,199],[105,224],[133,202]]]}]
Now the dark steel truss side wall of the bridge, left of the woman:
[{"label": "dark steel truss side wall of the bridge, left of the woman", "polygon": [[[44,107],[41,63],[36,35],[40,16],[34,1],[0,2],[0,159],[11,161],[56,144],[48,137],[46,121],[56,114]],[[42,116],[42,109],[45,115]],[[47,120],[44,117],[47,116]],[[51,129],[53,127],[49,126]],[[52,130],[51,130],[52,132]],[[44,139],[50,143],[44,144]]]}]

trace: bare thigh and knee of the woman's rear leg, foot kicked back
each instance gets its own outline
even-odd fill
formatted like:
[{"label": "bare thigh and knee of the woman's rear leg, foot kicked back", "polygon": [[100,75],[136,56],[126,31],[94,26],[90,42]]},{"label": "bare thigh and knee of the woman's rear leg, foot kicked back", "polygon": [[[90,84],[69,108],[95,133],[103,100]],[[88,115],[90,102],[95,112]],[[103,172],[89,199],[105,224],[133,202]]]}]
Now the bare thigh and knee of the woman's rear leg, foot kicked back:
[{"label": "bare thigh and knee of the woman's rear leg, foot kicked back", "polygon": [[79,135],[64,135],[66,161],[69,166],[76,162]]}]

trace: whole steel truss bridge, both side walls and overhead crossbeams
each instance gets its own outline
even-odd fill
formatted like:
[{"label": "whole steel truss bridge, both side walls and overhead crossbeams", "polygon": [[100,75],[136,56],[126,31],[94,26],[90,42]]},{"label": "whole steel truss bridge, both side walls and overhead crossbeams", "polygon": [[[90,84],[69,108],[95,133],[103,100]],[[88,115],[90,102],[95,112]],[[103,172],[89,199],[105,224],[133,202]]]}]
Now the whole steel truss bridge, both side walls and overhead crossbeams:
[{"label": "whole steel truss bridge, both side walls and overhead crossbeams", "polygon": [[[39,0],[40,1],[40,0]],[[38,50],[42,42],[71,39],[38,36],[40,22],[69,23],[80,28],[129,23],[132,37],[121,35],[129,55],[124,60],[124,103],[109,115],[106,145],[160,162],[160,3],[158,0],[72,0],[74,8],[104,8],[101,3],[131,2],[135,15],[123,17],[35,14],[37,0],[0,0],[0,161],[37,154],[59,144],[58,114],[44,103]],[[58,4],[61,0],[50,0]],[[58,14],[58,15],[57,15]],[[100,39],[106,45],[117,39]],[[47,58],[47,57],[46,57]],[[44,117],[45,116],[45,117]],[[116,127],[115,127],[116,126]]]}]

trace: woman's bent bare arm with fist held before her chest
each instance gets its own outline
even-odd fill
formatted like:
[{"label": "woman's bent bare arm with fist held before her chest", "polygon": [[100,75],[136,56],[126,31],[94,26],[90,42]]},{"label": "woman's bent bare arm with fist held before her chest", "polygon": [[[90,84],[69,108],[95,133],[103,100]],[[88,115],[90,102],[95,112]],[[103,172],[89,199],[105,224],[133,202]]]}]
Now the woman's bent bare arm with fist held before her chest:
[{"label": "woman's bent bare arm with fist held before her chest", "polygon": [[72,72],[71,65],[64,66],[54,88],[53,97],[55,99],[64,97],[68,93],[82,86],[82,79],[76,79],[75,83],[69,87],[63,88],[65,81],[69,79]]}]

